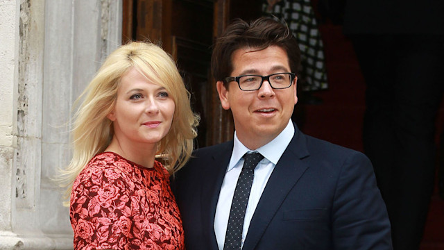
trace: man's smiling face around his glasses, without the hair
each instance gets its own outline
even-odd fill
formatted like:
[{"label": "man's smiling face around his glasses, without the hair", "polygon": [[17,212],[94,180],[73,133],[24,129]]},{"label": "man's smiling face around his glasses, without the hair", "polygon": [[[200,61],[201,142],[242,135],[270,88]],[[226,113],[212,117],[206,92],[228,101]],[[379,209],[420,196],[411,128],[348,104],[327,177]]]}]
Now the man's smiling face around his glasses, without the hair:
[{"label": "man's smiling face around his glasses, without the hair", "polygon": [[[237,49],[232,53],[233,72],[230,76],[291,72],[287,52],[277,46],[261,51],[255,48]],[[243,91],[237,82],[216,83],[219,99],[225,110],[231,109],[237,137],[249,149],[257,149],[271,142],[287,126],[296,97],[296,81],[290,88],[274,90],[264,81],[259,90]]]}]

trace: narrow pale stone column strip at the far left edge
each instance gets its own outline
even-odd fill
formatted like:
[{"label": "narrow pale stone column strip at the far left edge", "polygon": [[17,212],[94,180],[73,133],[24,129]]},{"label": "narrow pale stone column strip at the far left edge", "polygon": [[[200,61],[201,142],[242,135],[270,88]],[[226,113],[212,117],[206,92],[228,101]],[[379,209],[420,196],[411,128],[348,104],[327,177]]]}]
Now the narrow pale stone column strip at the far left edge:
[{"label": "narrow pale stone column strip at the far left edge", "polygon": [[17,148],[19,3],[0,1],[0,249],[17,243],[12,233],[15,203],[13,156]]}]

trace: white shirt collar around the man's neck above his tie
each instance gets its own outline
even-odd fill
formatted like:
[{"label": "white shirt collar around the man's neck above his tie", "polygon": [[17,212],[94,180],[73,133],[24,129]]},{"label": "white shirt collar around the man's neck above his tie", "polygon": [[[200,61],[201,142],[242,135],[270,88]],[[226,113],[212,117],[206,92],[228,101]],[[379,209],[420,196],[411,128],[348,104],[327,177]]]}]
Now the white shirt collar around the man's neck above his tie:
[{"label": "white shirt collar around the man's neck above his tie", "polygon": [[[278,136],[276,136],[276,138],[264,146],[259,147],[259,149],[256,149],[255,151],[261,153],[266,160],[269,160],[271,163],[276,165],[282,156],[282,153],[284,153],[285,149],[287,149],[293,135],[294,126],[290,119],[287,126]],[[230,171],[234,166],[236,166],[237,163],[239,163],[239,160],[241,160],[242,156],[244,156],[244,154],[248,151],[251,150],[245,147],[244,144],[239,141],[236,131],[234,131],[234,146],[227,171]]]}]

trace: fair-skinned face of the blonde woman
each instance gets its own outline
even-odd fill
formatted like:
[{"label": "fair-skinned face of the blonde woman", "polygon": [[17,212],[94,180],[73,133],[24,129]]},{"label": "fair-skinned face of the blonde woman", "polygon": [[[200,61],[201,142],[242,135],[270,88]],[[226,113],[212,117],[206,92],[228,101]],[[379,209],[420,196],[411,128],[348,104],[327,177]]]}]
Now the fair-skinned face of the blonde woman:
[{"label": "fair-skinned face of the blonde woman", "polygon": [[174,109],[169,92],[133,68],[121,78],[117,100],[108,119],[113,122],[119,144],[138,147],[160,142],[167,135]]}]

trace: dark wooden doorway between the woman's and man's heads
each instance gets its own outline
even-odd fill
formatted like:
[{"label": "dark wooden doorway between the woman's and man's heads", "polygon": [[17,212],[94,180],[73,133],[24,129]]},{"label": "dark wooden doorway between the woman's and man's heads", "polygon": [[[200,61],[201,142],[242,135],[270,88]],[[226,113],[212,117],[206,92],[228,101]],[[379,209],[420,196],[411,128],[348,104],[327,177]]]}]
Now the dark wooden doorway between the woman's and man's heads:
[{"label": "dark wooden doorway between the woman's and man's heads", "polygon": [[196,147],[232,139],[232,117],[221,108],[210,72],[212,44],[230,20],[254,19],[261,8],[253,0],[123,0],[123,44],[151,41],[176,60],[200,115]]}]

